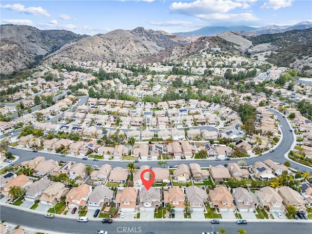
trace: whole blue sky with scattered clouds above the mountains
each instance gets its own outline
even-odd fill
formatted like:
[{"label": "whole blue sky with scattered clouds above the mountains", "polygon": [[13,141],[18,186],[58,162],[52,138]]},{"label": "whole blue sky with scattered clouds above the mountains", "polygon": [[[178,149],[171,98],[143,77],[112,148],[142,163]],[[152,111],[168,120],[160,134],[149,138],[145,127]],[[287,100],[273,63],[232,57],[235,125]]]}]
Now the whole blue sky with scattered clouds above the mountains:
[{"label": "whole blue sky with scattered clouds above the mountains", "polygon": [[168,33],[205,26],[292,25],[312,20],[311,0],[1,0],[1,24],[95,35],[138,26]]}]

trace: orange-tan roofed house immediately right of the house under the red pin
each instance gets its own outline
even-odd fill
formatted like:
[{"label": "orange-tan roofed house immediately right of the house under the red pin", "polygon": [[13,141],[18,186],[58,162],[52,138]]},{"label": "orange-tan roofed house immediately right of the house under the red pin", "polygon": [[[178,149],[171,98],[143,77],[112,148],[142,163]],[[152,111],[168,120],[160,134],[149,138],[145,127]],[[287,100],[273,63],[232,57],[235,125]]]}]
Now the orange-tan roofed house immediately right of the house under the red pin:
[{"label": "orange-tan roofed house immediately right of the house under the red pin", "polygon": [[175,211],[184,211],[185,196],[183,189],[179,187],[172,187],[164,190],[164,203],[167,207],[168,203],[175,206]]}]

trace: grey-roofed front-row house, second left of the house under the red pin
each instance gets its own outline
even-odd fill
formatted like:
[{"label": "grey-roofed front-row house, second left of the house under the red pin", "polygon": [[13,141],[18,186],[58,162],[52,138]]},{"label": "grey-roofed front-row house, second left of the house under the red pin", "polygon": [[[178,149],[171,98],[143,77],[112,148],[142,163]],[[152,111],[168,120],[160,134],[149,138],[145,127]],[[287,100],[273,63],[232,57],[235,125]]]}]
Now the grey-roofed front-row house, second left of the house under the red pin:
[{"label": "grey-roofed front-row house, second left of the house under the red pin", "polygon": [[91,192],[88,199],[88,210],[101,210],[103,205],[110,206],[113,199],[114,191],[104,185],[96,186]]}]

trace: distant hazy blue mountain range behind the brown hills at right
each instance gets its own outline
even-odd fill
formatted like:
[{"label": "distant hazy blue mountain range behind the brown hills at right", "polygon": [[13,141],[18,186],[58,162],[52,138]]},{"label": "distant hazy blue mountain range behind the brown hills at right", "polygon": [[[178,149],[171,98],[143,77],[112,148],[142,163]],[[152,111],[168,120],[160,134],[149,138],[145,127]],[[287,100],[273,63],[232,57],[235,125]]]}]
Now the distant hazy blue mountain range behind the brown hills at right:
[{"label": "distant hazy blue mountain range behind the brown hills at right", "polygon": [[268,25],[263,27],[250,26],[208,26],[195,31],[174,33],[180,37],[195,37],[195,36],[211,36],[223,32],[235,32],[243,36],[258,36],[261,34],[282,33],[290,30],[302,30],[312,27],[312,21],[302,21],[294,25]]}]

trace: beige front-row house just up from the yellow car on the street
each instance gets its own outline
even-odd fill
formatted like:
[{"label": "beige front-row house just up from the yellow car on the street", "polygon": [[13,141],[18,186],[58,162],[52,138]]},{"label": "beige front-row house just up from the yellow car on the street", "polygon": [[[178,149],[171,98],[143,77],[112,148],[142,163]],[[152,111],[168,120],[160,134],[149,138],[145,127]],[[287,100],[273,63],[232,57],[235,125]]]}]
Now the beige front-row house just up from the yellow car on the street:
[{"label": "beige front-row house just up from the yellow car on the street", "polygon": [[55,182],[46,188],[39,198],[41,204],[55,205],[62,200],[62,197],[69,192],[69,188],[61,182]]}]

